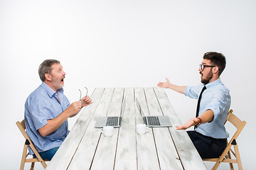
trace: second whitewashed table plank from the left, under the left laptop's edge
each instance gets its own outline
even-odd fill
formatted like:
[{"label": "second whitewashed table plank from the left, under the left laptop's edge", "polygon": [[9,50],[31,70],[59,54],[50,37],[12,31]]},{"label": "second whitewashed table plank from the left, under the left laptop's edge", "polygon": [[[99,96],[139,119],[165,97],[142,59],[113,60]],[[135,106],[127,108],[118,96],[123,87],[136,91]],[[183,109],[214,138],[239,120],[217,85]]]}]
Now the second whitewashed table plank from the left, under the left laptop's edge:
[{"label": "second whitewashed table plank from the left, under the left laptop's edge", "polygon": [[95,114],[88,125],[85,135],[68,169],[90,169],[101,136],[101,128],[94,128],[94,126],[97,116],[106,115],[110,107],[113,91],[114,88],[105,89],[100,98],[100,103],[95,110]]}]

